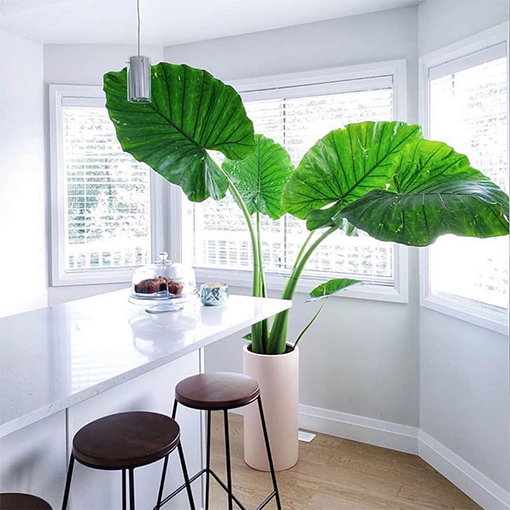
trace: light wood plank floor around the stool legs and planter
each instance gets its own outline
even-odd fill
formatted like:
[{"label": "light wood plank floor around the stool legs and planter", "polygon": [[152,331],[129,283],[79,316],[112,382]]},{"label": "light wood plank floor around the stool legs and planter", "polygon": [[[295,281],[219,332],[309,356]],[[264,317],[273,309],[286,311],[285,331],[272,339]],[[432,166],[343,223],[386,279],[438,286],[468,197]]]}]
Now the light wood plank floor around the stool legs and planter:
[{"label": "light wood plank floor around the stool legs and planter", "polygon": [[[226,481],[222,414],[213,416],[211,464]],[[230,414],[230,423],[234,488],[253,509],[271,492],[271,477],[243,461],[242,416]],[[285,510],[480,509],[415,455],[324,434],[299,445],[298,464],[278,473]],[[211,481],[211,510],[227,508],[225,492]],[[276,504],[266,508],[274,510]]]}]

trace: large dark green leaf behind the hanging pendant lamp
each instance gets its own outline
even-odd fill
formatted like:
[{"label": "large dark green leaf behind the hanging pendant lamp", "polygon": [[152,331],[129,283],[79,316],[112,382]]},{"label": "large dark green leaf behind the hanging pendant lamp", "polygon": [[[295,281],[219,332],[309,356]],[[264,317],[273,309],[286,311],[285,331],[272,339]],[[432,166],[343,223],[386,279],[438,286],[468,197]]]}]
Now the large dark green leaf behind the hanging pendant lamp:
[{"label": "large dark green leaf behind the hanging pendant lamp", "polygon": [[207,71],[152,67],[152,102],[127,101],[126,69],[104,76],[106,108],[122,148],[147,163],[188,198],[225,196],[228,181],[207,150],[242,159],[255,149],[253,124],[239,94]]}]

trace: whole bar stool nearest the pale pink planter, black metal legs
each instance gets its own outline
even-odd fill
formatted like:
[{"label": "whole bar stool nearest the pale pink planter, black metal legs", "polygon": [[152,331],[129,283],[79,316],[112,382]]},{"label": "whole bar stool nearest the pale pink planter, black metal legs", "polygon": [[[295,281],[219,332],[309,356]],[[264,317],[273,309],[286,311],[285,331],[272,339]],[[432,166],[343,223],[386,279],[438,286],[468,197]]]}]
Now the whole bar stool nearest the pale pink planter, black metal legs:
[{"label": "whole bar stool nearest the pale pink planter, black metal legs", "polygon": [[[190,479],[193,483],[197,478],[206,474],[205,489],[205,510],[209,510],[209,483],[210,476],[220,484],[227,492],[229,497],[228,508],[233,509],[234,502],[241,508],[246,510],[244,505],[232,492],[232,468],[230,463],[230,438],[228,428],[228,411],[247,406],[252,402],[258,402],[260,420],[262,422],[262,431],[266,444],[267,457],[269,460],[269,469],[273,480],[273,492],[269,494],[264,501],[256,508],[261,510],[272,498],[276,499],[278,510],[281,510],[280,495],[278,493],[278,485],[276,483],[276,474],[274,471],[273,458],[271,456],[271,448],[269,445],[269,437],[267,435],[266,420],[264,418],[264,410],[262,408],[262,400],[260,398],[259,383],[252,377],[243,374],[234,374],[229,372],[215,372],[210,374],[199,374],[183,379],[175,388],[175,401],[172,417],[175,418],[177,413],[177,404],[185,407],[207,411],[207,455],[206,467],[195,474]],[[227,485],[219,478],[219,476],[211,469],[211,412],[223,411],[225,426],[225,455],[227,463]],[[157,505],[154,510],[158,510],[160,506],[172,499],[178,491],[183,487],[174,491]]]}]

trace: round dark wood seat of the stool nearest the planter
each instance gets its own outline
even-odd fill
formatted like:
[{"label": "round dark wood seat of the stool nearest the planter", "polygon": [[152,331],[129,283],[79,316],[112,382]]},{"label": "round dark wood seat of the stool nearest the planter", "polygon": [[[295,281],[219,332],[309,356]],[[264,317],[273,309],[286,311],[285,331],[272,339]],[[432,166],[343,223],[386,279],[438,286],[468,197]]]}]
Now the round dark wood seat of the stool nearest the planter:
[{"label": "round dark wood seat of the stool nearest the planter", "polygon": [[259,394],[258,381],[247,375],[230,372],[193,375],[175,388],[177,402],[203,411],[242,407],[254,402]]}]

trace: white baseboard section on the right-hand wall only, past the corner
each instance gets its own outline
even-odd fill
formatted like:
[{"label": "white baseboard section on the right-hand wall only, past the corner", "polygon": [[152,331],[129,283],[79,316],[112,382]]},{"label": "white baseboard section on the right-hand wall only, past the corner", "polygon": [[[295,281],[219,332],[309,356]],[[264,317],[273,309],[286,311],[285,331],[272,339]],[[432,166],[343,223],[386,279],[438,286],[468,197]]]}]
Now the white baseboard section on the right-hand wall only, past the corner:
[{"label": "white baseboard section on the right-hand wall only, past the corner", "polygon": [[418,455],[486,510],[510,510],[510,493],[420,430]]}]

